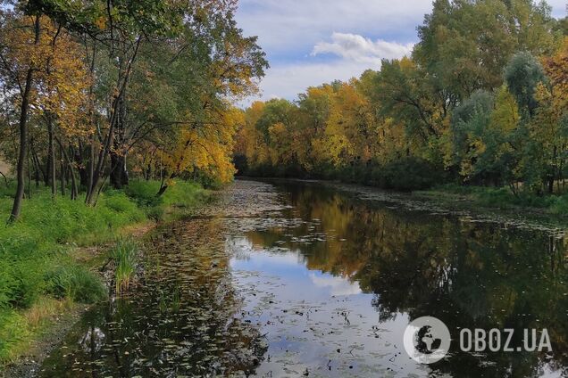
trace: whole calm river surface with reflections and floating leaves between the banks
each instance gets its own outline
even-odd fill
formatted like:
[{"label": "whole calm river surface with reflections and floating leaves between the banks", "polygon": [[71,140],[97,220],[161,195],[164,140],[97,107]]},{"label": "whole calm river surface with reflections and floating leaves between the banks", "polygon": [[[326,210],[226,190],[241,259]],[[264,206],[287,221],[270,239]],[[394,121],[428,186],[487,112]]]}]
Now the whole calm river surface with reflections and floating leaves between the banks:
[{"label": "whole calm river surface with reflections and floating leaves between the banks", "polygon": [[[240,181],[146,242],[145,283],[89,311],[54,377],[568,376],[567,239],[319,185]],[[436,316],[450,353],[405,354]],[[462,328],[547,329],[552,352],[462,352]]]}]

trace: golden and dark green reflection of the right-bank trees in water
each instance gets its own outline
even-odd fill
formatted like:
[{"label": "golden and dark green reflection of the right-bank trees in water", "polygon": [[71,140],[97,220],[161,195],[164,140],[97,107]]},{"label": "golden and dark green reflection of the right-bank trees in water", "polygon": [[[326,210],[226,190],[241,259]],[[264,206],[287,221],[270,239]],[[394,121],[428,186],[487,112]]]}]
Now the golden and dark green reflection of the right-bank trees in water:
[{"label": "golden and dark green reflection of the right-bank trees in water", "polygon": [[[399,313],[437,316],[452,333],[468,328],[547,328],[553,344],[550,366],[568,367],[568,267],[565,245],[544,232],[462,223],[439,217],[369,208],[369,202],[332,191],[290,189],[290,217],[321,219],[310,230],[271,229],[247,237],[262,246],[301,251],[307,267],[359,282],[376,293],[380,320]],[[287,234],[328,234],[326,242],[293,242]],[[334,237],[330,237],[333,235]],[[457,342],[454,343],[457,348]],[[456,350],[453,350],[456,352]],[[490,353],[489,376],[534,376],[546,361],[539,353]],[[455,376],[478,376],[480,357],[456,353],[435,367]],[[565,372],[568,374],[568,372]]]}]

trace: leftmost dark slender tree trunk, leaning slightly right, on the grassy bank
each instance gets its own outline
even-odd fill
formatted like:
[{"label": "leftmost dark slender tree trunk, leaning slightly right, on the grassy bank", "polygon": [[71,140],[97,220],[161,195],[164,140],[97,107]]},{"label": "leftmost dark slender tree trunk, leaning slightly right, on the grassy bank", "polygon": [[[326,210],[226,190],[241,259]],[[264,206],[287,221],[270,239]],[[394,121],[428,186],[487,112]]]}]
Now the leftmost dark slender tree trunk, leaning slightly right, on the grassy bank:
[{"label": "leftmost dark slender tree trunk, leaning slightly right, on the grassy bank", "polygon": [[[35,25],[36,39],[35,44],[38,45],[39,42],[39,17],[36,17]],[[10,213],[10,218],[8,223],[13,223],[20,217],[21,213],[21,201],[23,200],[24,190],[26,188],[26,177],[24,172],[24,165],[26,162],[26,157],[28,156],[28,111],[29,111],[29,92],[31,91],[31,85],[33,80],[33,67],[29,67],[26,74],[26,82],[24,86],[23,94],[21,94],[21,105],[20,105],[20,152],[18,153],[18,163],[16,165],[16,179],[18,185],[16,187],[16,195],[13,199],[13,208]]]}]

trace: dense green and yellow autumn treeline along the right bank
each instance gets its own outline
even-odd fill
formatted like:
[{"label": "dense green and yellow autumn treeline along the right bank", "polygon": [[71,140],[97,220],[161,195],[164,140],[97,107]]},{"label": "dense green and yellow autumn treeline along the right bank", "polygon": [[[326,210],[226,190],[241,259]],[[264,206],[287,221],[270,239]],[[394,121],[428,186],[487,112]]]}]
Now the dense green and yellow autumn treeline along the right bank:
[{"label": "dense green and yellow autumn treeline along the right bank", "polygon": [[[246,110],[246,175],[552,193],[568,174],[568,21],[530,0],[436,0],[412,56]],[[555,186],[557,185],[557,186]]]}]

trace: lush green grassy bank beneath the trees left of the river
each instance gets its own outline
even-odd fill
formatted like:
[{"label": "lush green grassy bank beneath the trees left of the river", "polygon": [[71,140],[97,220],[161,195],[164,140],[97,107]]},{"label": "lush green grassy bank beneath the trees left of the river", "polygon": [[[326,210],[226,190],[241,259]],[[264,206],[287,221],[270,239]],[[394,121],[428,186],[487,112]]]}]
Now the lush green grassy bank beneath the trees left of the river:
[{"label": "lush green grassy bank beneath the trees left of the river", "polygon": [[[25,353],[55,317],[105,299],[108,290],[83,247],[113,244],[137,226],[183,216],[208,196],[200,185],[180,182],[156,198],[158,187],[135,181],[125,191],[102,193],[96,207],[32,189],[18,222],[0,227],[0,366]],[[0,217],[8,218],[13,191],[0,186]]]}]

